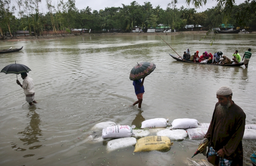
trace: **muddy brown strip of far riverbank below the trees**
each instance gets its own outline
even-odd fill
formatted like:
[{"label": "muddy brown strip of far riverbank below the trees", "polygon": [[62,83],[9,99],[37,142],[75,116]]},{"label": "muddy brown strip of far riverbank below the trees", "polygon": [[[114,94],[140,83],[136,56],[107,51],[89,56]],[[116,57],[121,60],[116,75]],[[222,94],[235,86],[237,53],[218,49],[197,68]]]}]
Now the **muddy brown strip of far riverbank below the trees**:
[{"label": "muddy brown strip of far riverbank below the trees", "polygon": [[[157,33],[161,35],[180,35],[180,34],[206,34],[207,31],[184,31],[184,32],[173,32],[173,33]],[[82,35],[80,34],[68,34],[68,35],[49,35],[49,36],[20,36],[20,37],[6,37],[2,41],[26,41],[26,40],[49,40],[49,39],[57,39],[57,38],[72,38],[72,37],[81,37],[81,36],[111,36],[111,35],[117,35],[117,36],[137,36],[137,35],[157,35],[156,33],[99,33],[99,34],[93,34],[93,33],[84,33]]]}]

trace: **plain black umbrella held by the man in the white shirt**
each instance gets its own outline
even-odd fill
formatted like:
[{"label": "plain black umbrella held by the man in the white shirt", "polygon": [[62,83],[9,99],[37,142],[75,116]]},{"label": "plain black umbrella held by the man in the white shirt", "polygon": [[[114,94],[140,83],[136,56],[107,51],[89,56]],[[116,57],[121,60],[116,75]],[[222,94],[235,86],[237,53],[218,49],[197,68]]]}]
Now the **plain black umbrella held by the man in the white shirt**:
[{"label": "plain black umbrella held by the man in the white shirt", "polygon": [[[17,75],[20,73],[28,73],[29,71],[31,71],[31,70],[27,66],[25,66],[24,64],[18,64],[18,63],[16,63],[16,61],[13,64],[9,64],[9,65],[5,66],[1,70],[1,72],[5,73],[5,74],[13,73],[13,74],[17,74]],[[18,76],[17,76],[17,79],[18,79]]]}]

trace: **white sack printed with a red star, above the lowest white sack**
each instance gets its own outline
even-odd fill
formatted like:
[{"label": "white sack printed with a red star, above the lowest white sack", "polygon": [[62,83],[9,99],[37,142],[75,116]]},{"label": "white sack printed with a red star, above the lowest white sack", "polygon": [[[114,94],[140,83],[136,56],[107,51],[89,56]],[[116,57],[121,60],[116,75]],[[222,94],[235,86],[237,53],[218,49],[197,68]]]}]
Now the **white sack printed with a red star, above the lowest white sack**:
[{"label": "white sack printed with a red star, above the lowest white sack", "polygon": [[132,128],[128,125],[115,125],[102,130],[102,138],[124,138],[134,135]]}]

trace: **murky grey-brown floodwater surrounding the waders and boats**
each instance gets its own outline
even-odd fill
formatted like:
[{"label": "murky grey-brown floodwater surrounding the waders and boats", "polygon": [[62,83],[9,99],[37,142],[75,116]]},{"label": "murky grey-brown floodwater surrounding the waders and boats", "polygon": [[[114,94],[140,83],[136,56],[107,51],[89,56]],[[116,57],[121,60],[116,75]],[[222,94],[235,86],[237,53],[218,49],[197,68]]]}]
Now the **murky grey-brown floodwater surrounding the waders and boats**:
[{"label": "murky grey-brown floodwater surrounding the waders and boats", "polygon": [[[175,53],[157,35],[84,36],[40,41],[0,41],[0,50],[24,48],[16,53],[0,54],[0,68],[25,64],[32,71],[35,100],[29,106],[16,75],[0,73],[0,165],[192,165],[191,156],[201,140],[175,142],[170,151],[133,153],[134,148],[106,150],[106,142],[89,141],[88,135],[100,122],[137,127],[145,119],[195,118],[210,123],[216,90],[229,86],[233,101],[246,114],[246,124],[256,123],[256,35],[217,35],[212,46],[203,35],[163,35],[179,54],[222,51],[232,58],[252,49],[248,69],[177,62]],[[137,62],[156,64],[145,78],[142,109],[129,107],[137,97],[130,70]],[[19,81],[22,81],[18,75]],[[152,133],[153,135],[155,133]],[[244,165],[251,165],[250,155],[256,141],[243,141]],[[197,163],[207,160],[202,154]]]}]

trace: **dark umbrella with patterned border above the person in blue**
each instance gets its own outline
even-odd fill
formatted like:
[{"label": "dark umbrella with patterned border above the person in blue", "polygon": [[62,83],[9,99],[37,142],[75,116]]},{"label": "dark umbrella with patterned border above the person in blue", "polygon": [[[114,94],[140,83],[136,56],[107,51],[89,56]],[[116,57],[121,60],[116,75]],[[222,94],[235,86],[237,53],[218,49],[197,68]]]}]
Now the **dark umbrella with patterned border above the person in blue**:
[{"label": "dark umbrella with patterned border above the person in blue", "polygon": [[[137,62],[138,63],[138,62]],[[138,80],[141,79],[150,73],[152,73],[156,68],[156,65],[151,62],[141,62],[136,64],[132,69],[130,73],[130,80]]]}]

